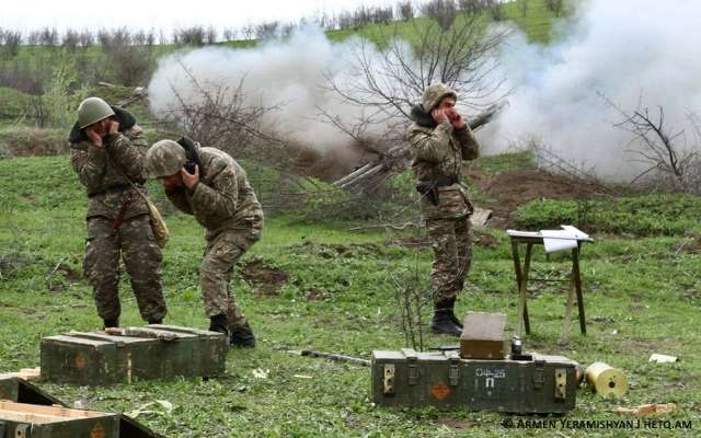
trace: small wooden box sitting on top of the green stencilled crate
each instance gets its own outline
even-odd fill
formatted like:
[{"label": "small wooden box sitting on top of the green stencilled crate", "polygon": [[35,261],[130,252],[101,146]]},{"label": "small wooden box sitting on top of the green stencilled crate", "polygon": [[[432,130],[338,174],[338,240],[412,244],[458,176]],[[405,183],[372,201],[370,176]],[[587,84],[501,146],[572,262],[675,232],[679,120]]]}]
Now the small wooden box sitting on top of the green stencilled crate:
[{"label": "small wooden box sitting on top of the green stencilled crate", "polygon": [[460,357],[463,359],[504,359],[504,327],[502,313],[469,312],[460,335]]}]

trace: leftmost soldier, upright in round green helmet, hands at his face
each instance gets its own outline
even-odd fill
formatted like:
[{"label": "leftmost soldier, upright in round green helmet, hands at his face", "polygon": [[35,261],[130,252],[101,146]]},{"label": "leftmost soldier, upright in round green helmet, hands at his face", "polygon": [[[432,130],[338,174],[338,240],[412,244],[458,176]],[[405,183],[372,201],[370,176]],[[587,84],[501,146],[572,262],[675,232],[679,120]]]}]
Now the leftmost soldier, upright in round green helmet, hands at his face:
[{"label": "leftmost soldier, upright in round green helmet, hands at his face", "polygon": [[88,192],[88,239],[83,268],[105,327],[119,325],[119,255],[139,312],[151,324],[165,316],[160,280],[161,250],[149,208],[134,184],[146,181],[148,143],[131,114],[99,97],[84,100],[71,129],[70,161]]}]

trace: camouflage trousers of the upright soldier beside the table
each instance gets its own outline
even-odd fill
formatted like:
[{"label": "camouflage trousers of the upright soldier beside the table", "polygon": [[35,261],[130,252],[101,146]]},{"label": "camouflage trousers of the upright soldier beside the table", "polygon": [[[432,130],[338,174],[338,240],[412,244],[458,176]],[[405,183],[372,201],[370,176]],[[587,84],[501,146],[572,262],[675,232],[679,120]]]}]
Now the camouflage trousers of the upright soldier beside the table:
[{"label": "camouflage trousers of the upright soldier beside the table", "polygon": [[430,219],[426,229],[434,250],[430,283],[434,303],[456,299],[472,264],[470,217]]}]

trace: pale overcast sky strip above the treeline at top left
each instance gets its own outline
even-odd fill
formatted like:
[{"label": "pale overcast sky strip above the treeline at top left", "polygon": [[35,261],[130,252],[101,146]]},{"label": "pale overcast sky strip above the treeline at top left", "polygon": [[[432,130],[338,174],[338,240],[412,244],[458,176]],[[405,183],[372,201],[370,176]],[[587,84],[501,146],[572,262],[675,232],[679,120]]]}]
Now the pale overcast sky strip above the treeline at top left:
[{"label": "pale overcast sky strip above the treeline at top left", "polygon": [[163,28],[192,24],[218,30],[263,21],[298,21],[320,11],[354,10],[359,4],[394,5],[398,0],[2,0],[0,27],[30,31],[44,26],[71,28]]}]

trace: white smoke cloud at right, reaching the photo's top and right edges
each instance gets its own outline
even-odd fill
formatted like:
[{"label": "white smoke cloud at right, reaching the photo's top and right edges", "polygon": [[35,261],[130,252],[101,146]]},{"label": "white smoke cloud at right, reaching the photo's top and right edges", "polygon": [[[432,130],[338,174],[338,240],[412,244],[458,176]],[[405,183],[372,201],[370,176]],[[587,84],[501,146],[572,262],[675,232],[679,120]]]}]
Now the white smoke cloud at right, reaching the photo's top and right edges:
[{"label": "white smoke cloud at right, reaching the photo's top and right edges", "polygon": [[620,116],[597,93],[629,112],[642,97],[651,111],[664,107],[668,127],[688,126],[690,112],[701,114],[700,16],[697,0],[590,0],[561,43],[530,45],[517,35],[502,58],[515,92],[487,129],[487,151],[533,135],[601,176],[639,174],[646,166],[625,152],[631,136],[611,126]]}]

